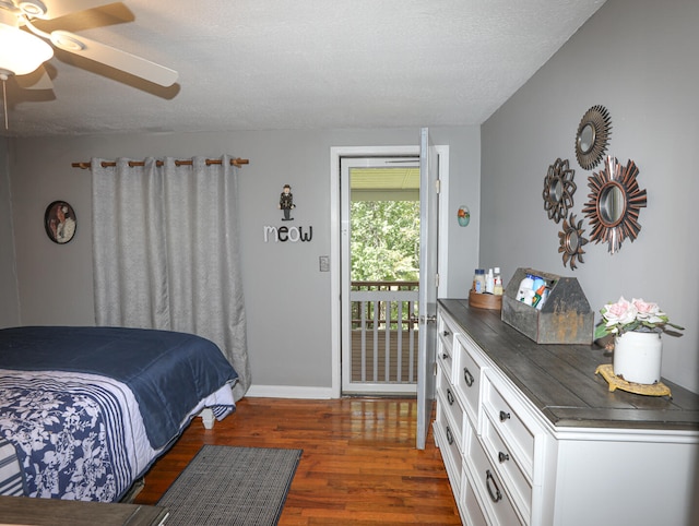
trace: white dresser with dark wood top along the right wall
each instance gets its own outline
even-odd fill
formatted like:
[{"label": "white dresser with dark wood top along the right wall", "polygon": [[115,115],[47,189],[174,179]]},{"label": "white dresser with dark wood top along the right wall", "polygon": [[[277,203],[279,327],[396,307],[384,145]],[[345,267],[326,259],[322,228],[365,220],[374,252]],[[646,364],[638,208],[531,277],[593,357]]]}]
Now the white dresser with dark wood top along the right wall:
[{"label": "white dresser with dark wood top along the right wall", "polygon": [[608,391],[604,349],[440,300],[434,433],[469,525],[699,525],[699,396]]}]

